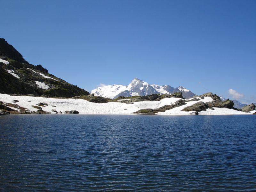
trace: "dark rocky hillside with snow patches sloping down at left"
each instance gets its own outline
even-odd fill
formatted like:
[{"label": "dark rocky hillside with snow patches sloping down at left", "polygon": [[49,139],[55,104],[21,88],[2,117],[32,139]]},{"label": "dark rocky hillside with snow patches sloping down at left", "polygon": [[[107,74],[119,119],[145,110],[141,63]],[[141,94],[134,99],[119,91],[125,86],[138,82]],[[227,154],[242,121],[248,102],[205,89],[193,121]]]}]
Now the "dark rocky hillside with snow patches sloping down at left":
[{"label": "dark rocky hillside with snow patches sloping down at left", "polygon": [[0,93],[33,94],[48,97],[74,97],[89,92],[32,65],[3,38],[0,38]]}]

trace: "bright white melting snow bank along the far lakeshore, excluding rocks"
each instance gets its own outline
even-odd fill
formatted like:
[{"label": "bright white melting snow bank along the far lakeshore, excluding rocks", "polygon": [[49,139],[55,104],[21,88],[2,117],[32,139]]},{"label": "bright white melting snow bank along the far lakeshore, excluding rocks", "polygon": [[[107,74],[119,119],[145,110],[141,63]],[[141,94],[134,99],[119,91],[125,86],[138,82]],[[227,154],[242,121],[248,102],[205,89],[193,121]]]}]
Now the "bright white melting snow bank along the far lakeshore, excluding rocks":
[{"label": "bright white melting snow bank along the far lakeshore, excluding rocks", "polygon": [[[180,98],[166,98],[160,101],[140,101],[134,102],[134,104],[126,105],[125,103],[92,103],[82,99],[55,99],[55,98],[44,98],[44,97],[29,97],[29,96],[10,96],[7,94],[0,94],[0,100],[6,103],[11,103],[12,100],[19,100],[18,105],[20,107],[27,108],[30,111],[37,111],[36,108],[33,108],[32,105],[36,105],[39,102],[45,102],[48,106],[42,107],[44,111],[52,113],[52,109],[56,109],[58,112],[64,112],[66,110],[77,110],[79,113],[91,113],[91,114],[131,114],[136,112],[139,109],[144,108],[159,108],[164,105],[172,105]],[[31,102],[28,102],[31,101]],[[205,97],[203,102],[212,101],[211,97]],[[198,101],[189,101],[186,105],[167,110],[158,114],[189,114],[193,111],[184,112],[181,111],[184,107],[192,105]],[[53,108],[51,105],[55,105],[56,108]],[[124,110],[126,109],[126,110]],[[214,108],[215,110],[208,109],[207,111],[201,111],[200,114],[249,114],[241,111],[236,111],[233,109],[227,108]]]}]

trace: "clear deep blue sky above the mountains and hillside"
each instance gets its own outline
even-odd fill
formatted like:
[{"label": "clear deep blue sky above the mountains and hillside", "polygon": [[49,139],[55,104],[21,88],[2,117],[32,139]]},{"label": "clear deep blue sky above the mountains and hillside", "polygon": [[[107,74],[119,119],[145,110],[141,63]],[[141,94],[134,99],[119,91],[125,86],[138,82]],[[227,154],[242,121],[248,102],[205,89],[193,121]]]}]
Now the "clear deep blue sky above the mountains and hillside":
[{"label": "clear deep blue sky above the mountains and hillside", "polygon": [[255,0],[0,4],[1,37],[28,62],[88,91],[138,77],[230,99],[233,89],[239,101],[256,102]]}]

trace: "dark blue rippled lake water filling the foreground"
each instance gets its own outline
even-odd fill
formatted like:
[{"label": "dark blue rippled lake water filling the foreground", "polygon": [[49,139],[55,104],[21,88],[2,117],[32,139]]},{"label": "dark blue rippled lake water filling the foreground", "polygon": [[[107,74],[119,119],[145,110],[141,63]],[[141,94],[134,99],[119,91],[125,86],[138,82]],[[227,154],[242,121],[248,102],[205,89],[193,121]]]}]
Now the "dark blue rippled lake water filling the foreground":
[{"label": "dark blue rippled lake water filling the foreground", "polygon": [[253,191],[256,116],[7,115],[0,191]]}]

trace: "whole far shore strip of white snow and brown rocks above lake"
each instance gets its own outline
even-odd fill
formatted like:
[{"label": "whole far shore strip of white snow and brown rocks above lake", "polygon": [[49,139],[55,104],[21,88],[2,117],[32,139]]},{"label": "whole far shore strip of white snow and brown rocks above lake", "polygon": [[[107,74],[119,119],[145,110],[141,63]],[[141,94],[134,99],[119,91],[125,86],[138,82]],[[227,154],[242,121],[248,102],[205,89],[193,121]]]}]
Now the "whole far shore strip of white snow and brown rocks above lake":
[{"label": "whole far shore strip of white snow and brown rocks above lake", "polygon": [[[2,97],[1,97],[2,96]],[[100,96],[81,95],[73,98],[47,98],[34,95],[0,95],[0,115],[5,114],[49,114],[49,113],[95,113],[95,114],[255,114],[255,105],[241,109],[233,107],[233,101],[221,101],[211,92],[184,99],[180,92],[152,94],[116,100]],[[105,108],[106,106],[106,108]],[[152,106],[152,108],[148,108]],[[137,109],[137,110],[136,110]],[[223,110],[222,110],[223,109]],[[224,110],[225,109],[225,110]],[[173,111],[174,110],[174,111]],[[227,112],[228,110],[228,112]]]}]

